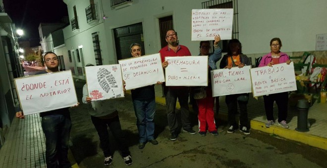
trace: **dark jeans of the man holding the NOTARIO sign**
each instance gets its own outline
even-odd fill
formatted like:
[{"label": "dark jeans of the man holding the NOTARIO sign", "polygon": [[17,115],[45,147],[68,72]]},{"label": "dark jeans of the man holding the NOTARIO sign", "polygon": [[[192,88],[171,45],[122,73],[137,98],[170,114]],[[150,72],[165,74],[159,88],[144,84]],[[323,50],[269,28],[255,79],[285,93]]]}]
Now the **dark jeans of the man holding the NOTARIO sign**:
[{"label": "dark jeans of the man holding the NOTARIO sign", "polygon": [[67,157],[71,129],[70,116],[44,116],[42,129],[46,137],[47,168],[70,168]]}]

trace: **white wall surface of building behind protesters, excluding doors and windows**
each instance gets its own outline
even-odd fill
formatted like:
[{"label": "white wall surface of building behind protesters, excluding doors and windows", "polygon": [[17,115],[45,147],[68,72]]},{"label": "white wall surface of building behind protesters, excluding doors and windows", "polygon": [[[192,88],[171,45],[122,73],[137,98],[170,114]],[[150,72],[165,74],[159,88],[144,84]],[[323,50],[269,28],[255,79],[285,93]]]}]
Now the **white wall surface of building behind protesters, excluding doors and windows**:
[{"label": "white wall surface of building behind protesters, excluding doors and windows", "polygon": [[[97,26],[86,22],[85,8],[89,0],[64,0],[69,19],[76,5],[79,32],[71,26],[64,29],[67,49],[83,45],[85,64],[95,63],[91,34],[99,32],[104,64],[116,63],[113,29],[142,22],[147,54],[161,49],[159,18],[173,16],[174,29],[180,44],[192,55],[198,55],[199,42],[191,41],[191,10],[201,9],[206,0],[134,0],[131,6],[111,9],[109,0],[95,0],[100,18]],[[69,2],[68,2],[69,1]],[[101,11],[101,4],[104,12]],[[315,50],[316,34],[327,33],[327,0],[238,0],[239,40],[243,53],[252,57],[270,52],[269,42],[274,37],[282,40],[283,52]],[[103,13],[108,17],[102,19]],[[102,25],[104,23],[104,25]],[[252,58],[254,61],[254,58]],[[79,66],[79,65],[78,65]]]}]

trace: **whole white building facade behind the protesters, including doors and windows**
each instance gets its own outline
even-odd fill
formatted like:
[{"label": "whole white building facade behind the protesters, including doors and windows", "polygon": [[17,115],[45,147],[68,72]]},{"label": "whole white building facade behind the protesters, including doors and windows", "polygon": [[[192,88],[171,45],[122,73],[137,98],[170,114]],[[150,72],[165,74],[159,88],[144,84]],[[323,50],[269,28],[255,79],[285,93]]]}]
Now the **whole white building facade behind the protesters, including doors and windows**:
[{"label": "whole white building facade behind the protesters, including doors and windows", "polygon": [[[171,28],[178,33],[179,43],[198,55],[199,42],[191,41],[192,9],[232,7],[233,38],[240,40],[243,53],[252,57],[253,63],[254,57],[270,52],[272,38],[280,38],[281,51],[292,55],[315,50],[316,35],[327,33],[326,0],[63,1],[71,21],[63,29],[68,49],[64,62],[66,69],[81,79],[85,78],[82,69],[87,63],[116,64],[130,57],[129,45],[133,42],[143,46],[143,54],[158,53],[166,44],[165,31]],[[93,5],[95,14],[91,18],[96,18],[88,22],[88,8]]]}]

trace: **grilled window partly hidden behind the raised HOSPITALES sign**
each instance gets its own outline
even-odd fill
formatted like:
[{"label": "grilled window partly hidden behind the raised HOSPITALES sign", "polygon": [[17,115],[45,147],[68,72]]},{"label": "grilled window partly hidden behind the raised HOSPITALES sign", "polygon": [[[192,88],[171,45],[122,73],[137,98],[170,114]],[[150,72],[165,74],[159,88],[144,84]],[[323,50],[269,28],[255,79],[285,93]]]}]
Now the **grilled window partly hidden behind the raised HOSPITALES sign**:
[{"label": "grilled window partly hidden behind the raised HOSPITALES sign", "polygon": [[[237,0],[208,0],[202,2],[203,9],[214,9],[214,8],[233,8],[233,31],[232,31],[232,39],[238,39],[238,6]],[[229,40],[222,40],[219,42],[219,46],[222,52],[227,52],[227,45]]]}]

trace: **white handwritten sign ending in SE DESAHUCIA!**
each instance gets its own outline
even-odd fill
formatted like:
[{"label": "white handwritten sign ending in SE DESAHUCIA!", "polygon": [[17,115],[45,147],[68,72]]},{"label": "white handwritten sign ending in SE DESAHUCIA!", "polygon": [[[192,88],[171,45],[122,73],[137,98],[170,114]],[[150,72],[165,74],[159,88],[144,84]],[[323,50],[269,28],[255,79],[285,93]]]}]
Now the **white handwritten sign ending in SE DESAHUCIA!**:
[{"label": "white handwritten sign ending in SE DESAHUCIA!", "polygon": [[164,82],[160,54],[134,57],[118,61],[127,90]]}]

